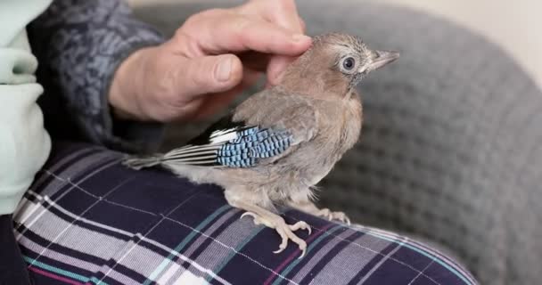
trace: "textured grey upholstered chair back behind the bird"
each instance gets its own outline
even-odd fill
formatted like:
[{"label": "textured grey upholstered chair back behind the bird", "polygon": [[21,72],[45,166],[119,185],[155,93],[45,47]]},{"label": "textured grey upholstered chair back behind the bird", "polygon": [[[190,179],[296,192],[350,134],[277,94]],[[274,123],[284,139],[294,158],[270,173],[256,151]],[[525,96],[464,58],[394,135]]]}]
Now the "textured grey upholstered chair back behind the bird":
[{"label": "textured grey upholstered chair back behind the bird", "polygon": [[[533,81],[496,45],[421,12],[298,4],[309,34],[340,30],[401,52],[361,84],[361,141],[322,183],[322,204],[439,243],[481,283],[542,280],[542,94]],[[137,13],[171,33],[212,6]],[[176,126],[165,147],[203,126]]]}]

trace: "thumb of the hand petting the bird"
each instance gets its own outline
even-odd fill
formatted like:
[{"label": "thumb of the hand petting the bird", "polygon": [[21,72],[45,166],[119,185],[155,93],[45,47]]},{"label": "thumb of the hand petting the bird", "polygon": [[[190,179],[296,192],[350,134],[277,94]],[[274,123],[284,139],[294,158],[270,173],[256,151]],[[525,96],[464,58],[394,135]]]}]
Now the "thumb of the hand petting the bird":
[{"label": "thumb of the hand petting the bird", "polygon": [[242,62],[234,54],[197,57],[182,64],[185,72],[177,77],[177,90],[188,99],[230,90],[242,80]]}]

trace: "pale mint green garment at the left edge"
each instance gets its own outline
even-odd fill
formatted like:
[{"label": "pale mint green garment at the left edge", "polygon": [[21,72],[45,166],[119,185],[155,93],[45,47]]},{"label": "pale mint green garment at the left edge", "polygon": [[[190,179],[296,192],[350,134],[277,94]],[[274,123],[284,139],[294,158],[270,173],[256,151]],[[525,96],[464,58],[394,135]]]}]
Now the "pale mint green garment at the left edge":
[{"label": "pale mint green garment at the left edge", "polygon": [[0,0],[0,215],[11,214],[51,150],[26,26],[51,0]]}]

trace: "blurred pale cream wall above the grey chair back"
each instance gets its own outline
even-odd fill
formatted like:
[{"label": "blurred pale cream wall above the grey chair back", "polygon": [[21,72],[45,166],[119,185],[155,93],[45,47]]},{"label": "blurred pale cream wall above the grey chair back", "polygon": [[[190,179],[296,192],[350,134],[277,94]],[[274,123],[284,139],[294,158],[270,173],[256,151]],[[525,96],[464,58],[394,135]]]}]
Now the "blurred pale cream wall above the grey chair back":
[{"label": "blurred pale cream wall above the grey chair back", "polygon": [[[189,1],[205,0],[128,0],[133,5]],[[341,1],[367,0],[340,0],[337,3]],[[386,1],[431,12],[478,31],[512,54],[542,87],[541,0],[380,0],[379,2]]]}]

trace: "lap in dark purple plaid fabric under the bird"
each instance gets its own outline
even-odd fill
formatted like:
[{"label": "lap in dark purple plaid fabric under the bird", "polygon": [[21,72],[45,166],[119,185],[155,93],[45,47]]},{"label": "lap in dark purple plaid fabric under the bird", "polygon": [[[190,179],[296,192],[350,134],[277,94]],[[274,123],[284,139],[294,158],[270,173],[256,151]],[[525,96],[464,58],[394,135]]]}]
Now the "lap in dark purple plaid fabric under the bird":
[{"label": "lap in dark purple plaid fabric under the bird", "polygon": [[288,210],[307,255],[227,205],[220,188],[121,154],[56,143],[14,216],[36,284],[473,284],[447,256],[390,232]]}]

